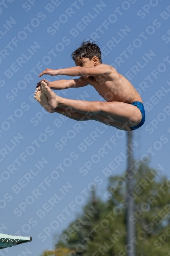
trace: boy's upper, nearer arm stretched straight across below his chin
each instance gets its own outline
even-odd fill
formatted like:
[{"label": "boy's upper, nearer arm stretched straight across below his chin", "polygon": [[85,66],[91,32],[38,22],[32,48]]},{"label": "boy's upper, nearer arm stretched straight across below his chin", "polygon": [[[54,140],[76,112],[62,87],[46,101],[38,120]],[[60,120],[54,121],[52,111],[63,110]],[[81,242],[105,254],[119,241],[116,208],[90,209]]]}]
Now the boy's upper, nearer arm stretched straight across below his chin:
[{"label": "boy's upper, nearer arm stretched straight across below his chin", "polygon": [[100,64],[99,66],[95,66],[94,68],[84,68],[84,67],[77,66],[77,67],[57,69],[57,70],[46,69],[42,73],[40,73],[39,76],[42,76],[42,75],[95,76],[95,75],[101,75],[101,74],[109,75],[113,70],[114,68],[109,65]]}]

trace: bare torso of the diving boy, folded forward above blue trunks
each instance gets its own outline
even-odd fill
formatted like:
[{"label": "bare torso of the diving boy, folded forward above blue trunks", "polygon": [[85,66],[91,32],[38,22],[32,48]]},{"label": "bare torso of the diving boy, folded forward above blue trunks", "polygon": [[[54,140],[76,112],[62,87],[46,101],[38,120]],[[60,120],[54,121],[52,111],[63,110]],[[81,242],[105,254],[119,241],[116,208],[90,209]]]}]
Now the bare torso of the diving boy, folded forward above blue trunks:
[{"label": "bare torso of the diving boy, folded forward above blue trunks", "polygon": [[109,76],[102,74],[95,78],[89,76],[86,79],[106,101],[118,101],[128,104],[140,101],[143,103],[140,94],[132,84],[123,75],[115,71],[114,68]]}]

